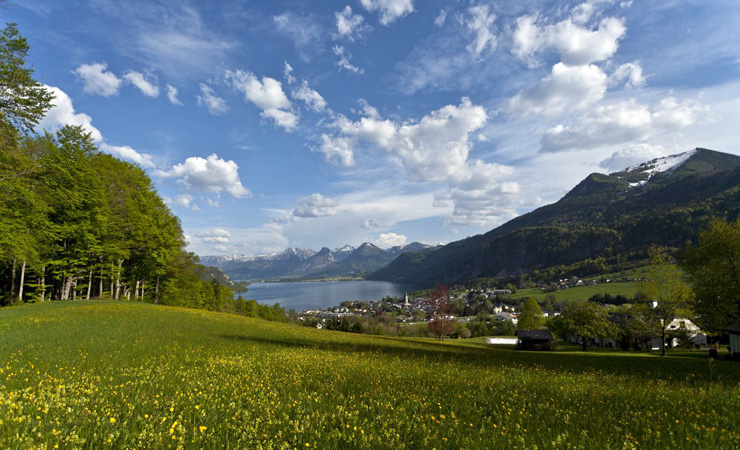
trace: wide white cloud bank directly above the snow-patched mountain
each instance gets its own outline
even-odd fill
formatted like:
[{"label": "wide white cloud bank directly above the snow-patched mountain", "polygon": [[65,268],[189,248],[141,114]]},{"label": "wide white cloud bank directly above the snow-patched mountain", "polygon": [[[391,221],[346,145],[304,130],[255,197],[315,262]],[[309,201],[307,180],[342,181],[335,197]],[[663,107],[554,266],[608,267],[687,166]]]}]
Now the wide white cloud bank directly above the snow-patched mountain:
[{"label": "wide white cloud bank directly above the snow-patched mountain", "polygon": [[659,132],[675,132],[696,123],[708,108],[694,100],[666,97],[649,107],[630,99],[599,106],[573,126],[557,125],[542,137],[542,151],[592,149],[644,141]]}]

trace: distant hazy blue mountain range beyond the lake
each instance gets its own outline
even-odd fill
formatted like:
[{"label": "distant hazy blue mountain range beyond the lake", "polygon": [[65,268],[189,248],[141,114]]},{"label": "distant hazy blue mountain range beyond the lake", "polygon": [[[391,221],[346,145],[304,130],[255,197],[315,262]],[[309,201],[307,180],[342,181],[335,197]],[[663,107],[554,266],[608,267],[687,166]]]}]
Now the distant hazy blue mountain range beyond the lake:
[{"label": "distant hazy blue mountain range beyond the lake", "polygon": [[266,278],[364,277],[393,261],[405,252],[432,248],[420,242],[384,250],[369,242],[358,248],[345,245],[330,250],[288,248],[280,253],[249,256],[203,256],[201,264],[218,267],[234,280]]}]

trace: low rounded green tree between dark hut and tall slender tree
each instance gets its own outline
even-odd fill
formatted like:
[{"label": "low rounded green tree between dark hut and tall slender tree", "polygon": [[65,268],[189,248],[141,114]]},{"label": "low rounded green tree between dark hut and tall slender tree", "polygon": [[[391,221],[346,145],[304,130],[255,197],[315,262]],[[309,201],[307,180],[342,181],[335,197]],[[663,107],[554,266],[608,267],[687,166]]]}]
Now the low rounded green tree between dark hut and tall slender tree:
[{"label": "low rounded green tree between dark hut and tall slender tree", "polygon": [[568,303],[563,312],[550,321],[550,328],[563,339],[579,338],[583,351],[593,339],[608,339],[617,332],[608,320],[606,308],[589,301]]}]

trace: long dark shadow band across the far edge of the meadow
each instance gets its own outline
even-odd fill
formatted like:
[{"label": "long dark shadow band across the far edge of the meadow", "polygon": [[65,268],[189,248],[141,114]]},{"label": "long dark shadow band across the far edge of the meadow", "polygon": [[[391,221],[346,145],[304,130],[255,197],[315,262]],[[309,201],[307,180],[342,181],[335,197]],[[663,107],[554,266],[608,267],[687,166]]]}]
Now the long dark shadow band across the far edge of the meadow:
[{"label": "long dark shadow band across the far edge of the meadow", "polygon": [[218,337],[250,345],[311,349],[347,354],[369,353],[372,356],[402,358],[427,363],[442,362],[481,368],[527,369],[537,367],[569,375],[593,374],[596,372],[603,375],[634,377],[636,382],[643,383],[653,381],[688,384],[715,382],[727,386],[736,386],[740,383],[740,370],[738,370],[740,364],[731,361],[715,361],[710,366],[706,358],[661,358],[659,356],[646,357],[646,355],[624,353],[608,355],[603,352],[578,354],[571,352],[524,352],[377,336],[363,336],[365,340],[374,342],[351,342],[351,339],[346,339],[347,334],[342,333],[340,336],[342,339],[337,340],[242,334],[224,334]]}]

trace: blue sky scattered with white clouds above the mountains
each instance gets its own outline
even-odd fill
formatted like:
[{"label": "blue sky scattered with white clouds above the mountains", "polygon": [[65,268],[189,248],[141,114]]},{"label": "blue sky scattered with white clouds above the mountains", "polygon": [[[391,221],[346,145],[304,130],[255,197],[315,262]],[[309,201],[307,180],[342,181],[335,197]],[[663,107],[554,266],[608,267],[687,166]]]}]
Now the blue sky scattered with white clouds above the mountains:
[{"label": "blue sky scattered with white clouds above the mountains", "polygon": [[592,172],[740,154],[735,0],[15,0],[82,125],[201,256],[451,242]]}]

